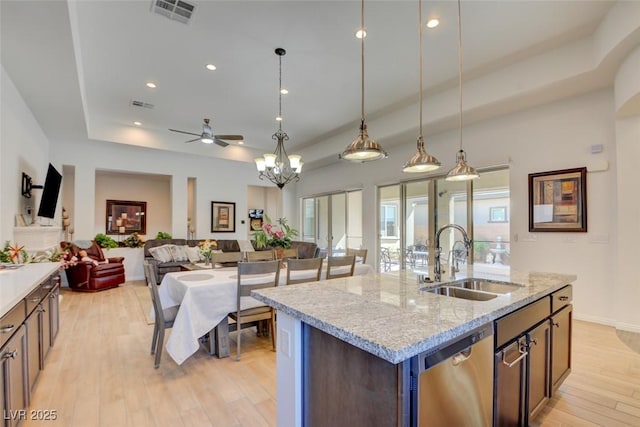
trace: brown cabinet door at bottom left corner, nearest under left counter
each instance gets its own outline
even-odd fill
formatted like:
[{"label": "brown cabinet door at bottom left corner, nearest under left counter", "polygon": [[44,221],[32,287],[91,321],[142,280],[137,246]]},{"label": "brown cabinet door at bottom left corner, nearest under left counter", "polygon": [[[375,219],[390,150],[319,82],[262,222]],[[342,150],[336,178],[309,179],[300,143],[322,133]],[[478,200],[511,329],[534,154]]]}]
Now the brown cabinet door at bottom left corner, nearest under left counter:
[{"label": "brown cabinet door at bottom left corner, nearest under left counter", "polygon": [[27,409],[27,334],[25,326],[0,350],[2,358],[4,405],[3,419],[8,427],[17,426]]}]

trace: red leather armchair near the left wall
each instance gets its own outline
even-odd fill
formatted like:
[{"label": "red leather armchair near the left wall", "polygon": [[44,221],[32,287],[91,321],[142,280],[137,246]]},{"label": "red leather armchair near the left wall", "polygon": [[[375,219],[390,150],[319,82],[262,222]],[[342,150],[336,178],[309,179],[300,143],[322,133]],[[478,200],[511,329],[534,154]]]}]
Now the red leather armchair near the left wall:
[{"label": "red leather armchair near the left wall", "polygon": [[82,261],[79,255],[81,250],[73,244],[63,242],[62,249],[69,250],[78,261],[75,265],[67,267],[67,280],[69,287],[74,291],[97,292],[120,286],[125,282],[123,257],[106,259],[100,246],[93,241],[91,247],[86,249],[87,256],[98,262]]}]

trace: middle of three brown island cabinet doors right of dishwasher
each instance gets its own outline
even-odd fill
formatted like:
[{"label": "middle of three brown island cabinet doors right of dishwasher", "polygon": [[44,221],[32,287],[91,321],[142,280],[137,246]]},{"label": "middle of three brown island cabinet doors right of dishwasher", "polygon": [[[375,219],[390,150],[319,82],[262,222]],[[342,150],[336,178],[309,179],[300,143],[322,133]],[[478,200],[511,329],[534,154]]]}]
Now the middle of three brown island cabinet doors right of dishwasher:
[{"label": "middle of three brown island cabinet doors right of dishwasher", "polygon": [[533,420],[547,404],[549,389],[550,322],[544,321],[527,334],[529,346],[528,421]]}]

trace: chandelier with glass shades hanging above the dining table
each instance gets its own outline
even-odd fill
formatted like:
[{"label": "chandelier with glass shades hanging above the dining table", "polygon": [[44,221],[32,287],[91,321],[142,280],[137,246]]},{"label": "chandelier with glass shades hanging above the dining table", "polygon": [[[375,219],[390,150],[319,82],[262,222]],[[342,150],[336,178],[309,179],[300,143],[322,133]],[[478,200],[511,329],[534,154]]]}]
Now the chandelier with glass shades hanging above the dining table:
[{"label": "chandelier with glass shades hanging above the dining table", "polygon": [[276,142],[276,150],[273,153],[263,154],[262,157],[254,159],[258,168],[260,179],[268,179],[273,182],[279,189],[290,183],[300,180],[300,172],[302,172],[302,156],[298,154],[287,155],[284,149],[284,141],[289,140],[289,135],[282,130],[282,94],[288,93],[282,88],[282,57],[287,53],[283,48],[279,47],[275,50],[278,55],[280,64],[279,72],[279,95],[278,95],[278,130],[271,137]]}]

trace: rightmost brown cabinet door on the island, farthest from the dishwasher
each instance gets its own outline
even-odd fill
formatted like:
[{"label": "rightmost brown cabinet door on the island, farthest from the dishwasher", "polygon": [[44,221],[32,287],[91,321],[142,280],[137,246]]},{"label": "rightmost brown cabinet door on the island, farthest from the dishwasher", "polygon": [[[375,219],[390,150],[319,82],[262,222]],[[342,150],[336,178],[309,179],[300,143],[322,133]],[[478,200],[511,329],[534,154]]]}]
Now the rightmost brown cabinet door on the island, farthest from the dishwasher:
[{"label": "rightmost brown cabinet door on the island, farthest from the dishwasher", "polygon": [[551,385],[555,392],[571,372],[571,325],[573,307],[551,316]]}]

